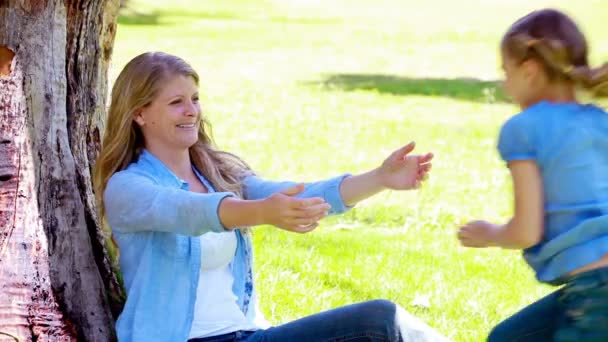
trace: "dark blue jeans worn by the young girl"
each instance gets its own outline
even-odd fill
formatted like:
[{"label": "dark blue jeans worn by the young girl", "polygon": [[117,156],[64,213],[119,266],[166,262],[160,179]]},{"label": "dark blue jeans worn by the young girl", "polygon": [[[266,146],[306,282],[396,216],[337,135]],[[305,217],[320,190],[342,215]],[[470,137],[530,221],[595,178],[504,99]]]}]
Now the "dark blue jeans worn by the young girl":
[{"label": "dark blue jeans worn by the young girl", "polygon": [[488,341],[608,341],[608,268],[568,279],[497,325]]}]

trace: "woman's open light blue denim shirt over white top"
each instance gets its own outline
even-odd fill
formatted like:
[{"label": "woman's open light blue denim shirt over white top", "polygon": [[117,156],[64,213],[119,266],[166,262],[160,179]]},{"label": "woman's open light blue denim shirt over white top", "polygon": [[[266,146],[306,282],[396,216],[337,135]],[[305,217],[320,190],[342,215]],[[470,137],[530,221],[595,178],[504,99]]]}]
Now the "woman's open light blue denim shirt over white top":
[{"label": "woman's open light blue denim shirt over white top", "polygon": [[[218,207],[234,196],[215,192],[197,172],[209,193],[190,192],[159,159],[144,150],[126,170],[112,175],[104,192],[106,218],[120,248],[120,269],[127,301],[116,323],[119,341],[186,341],[194,316],[201,266],[198,236],[224,231]],[[347,175],[306,184],[298,197],[323,197],[330,214],[349,209],[340,197]],[[256,176],[243,180],[247,199],[261,199],[293,182]],[[249,234],[237,231],[231,263],[237,304],[256,322],[252,246]]]}]

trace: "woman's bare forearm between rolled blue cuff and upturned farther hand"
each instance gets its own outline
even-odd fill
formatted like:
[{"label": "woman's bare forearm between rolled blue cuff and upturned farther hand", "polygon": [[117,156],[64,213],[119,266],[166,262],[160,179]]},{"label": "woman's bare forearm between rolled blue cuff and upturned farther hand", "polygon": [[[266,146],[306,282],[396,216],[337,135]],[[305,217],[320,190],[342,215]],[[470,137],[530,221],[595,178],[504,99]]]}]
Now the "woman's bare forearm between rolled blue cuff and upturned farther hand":
[{"label": "woman's bare forearm between rolled blue cuff and upturned farther hand", "polygon": [[374,169],[345,178],[340,185],[340,195],[344,204],[353,206],[384,189],[378,171]]}]

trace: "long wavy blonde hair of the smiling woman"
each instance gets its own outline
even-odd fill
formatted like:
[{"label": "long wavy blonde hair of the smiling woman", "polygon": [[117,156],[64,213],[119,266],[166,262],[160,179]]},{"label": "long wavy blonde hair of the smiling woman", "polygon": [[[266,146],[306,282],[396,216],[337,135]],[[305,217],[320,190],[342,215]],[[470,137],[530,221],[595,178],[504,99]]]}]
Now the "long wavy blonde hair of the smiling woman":
[{"label": "long wavy blonde hair of the smiling woman", "polygon": [[[93,175],[102,220],[105,216],[103,193],[108,180],[136,161],[144,148],[142,132],[134,121],[136,111],[149,105],[162,84],[178,75],[191,77],[198,85],[198,74],[183,59],[163,52],[147,52],[133,58],[116,79]],[[211,126],[204,117],[198,130],[198,141],[190,147],[190,158],[216,191],[243,196],[241,181],[250,169],[240,158],[214,147]],[[105,224],[103,226],[106,227]],[[111,236],[107,230],[104,228],[104,233]]]}]

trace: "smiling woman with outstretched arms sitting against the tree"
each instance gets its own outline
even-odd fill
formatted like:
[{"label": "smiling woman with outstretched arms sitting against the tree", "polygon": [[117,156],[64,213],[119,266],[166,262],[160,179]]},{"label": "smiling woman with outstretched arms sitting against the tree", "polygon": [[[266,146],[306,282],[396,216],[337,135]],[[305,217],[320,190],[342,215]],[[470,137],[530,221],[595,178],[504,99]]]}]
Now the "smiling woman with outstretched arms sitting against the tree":
[{"label": "smiling woman with outstretched arms sitting against the tree", "polygon": [[213,147],[198,80],[182,59],[144,53],[125,66],[112,90],[95,181],[127,291],[119,340],[441,339],[388,301],[278,327],[261,323],[244,228],[270,224],[308,232],[327,214],[383,189],[419,186],[433,156],[408,155],[411,143],[360,175],[305,185],[266,181]]}]

